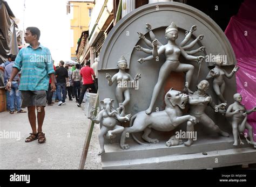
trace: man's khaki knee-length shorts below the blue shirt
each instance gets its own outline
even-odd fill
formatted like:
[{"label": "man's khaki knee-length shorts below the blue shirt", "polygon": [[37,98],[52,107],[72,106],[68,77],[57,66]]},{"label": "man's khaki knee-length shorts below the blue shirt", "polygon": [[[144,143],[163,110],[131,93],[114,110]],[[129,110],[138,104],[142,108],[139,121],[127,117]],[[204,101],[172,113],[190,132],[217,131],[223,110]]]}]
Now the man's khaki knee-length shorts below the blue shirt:
[{"label": "man's khaki knee-length shorts below the blue shirt", "polygon": [[46,106],[46,91],[21,91],[22,92],[22,108],[28,106]]}]

